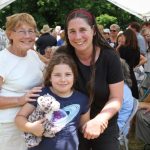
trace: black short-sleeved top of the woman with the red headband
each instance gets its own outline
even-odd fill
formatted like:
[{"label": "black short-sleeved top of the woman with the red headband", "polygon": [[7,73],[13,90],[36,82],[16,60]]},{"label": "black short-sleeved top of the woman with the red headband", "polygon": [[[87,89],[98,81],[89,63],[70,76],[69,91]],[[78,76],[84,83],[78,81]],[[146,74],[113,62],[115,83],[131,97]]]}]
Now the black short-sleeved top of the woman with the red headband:
[{"label": "black short-sleeved top of the woman with the red headband", "polygon": [[[87,82],[91,76],[89,66],[83,65],[75,58],[78,67],[78,80],[76,88],[87,94]],[[96,61],[95,95],[91,106],[91,117],[95,117],[104,107],[109,98],[109,84],[123,80],[121,64],[118,55],[112,49],[101,50]],[[116,120],[116,116],[113,117]]]}]

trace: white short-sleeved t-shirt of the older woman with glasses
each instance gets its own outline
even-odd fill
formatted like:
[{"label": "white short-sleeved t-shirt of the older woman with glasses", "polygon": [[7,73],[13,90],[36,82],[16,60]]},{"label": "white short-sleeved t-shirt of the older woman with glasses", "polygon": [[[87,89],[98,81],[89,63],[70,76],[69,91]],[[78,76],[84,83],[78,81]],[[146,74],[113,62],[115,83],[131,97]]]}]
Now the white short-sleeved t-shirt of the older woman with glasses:
[{"label": "white short-sleeved t-shirt of the older woman with glasses", "polygon": [[[43,82],[44,63],[33,50],[29,50],[25,57],[18,57],[7,49],[0,51],[0,76],[3,84],[0,96],[20,97],[29,89],[39,86]],[[20,107],[0,109],[0,122],[14,122]]]}]

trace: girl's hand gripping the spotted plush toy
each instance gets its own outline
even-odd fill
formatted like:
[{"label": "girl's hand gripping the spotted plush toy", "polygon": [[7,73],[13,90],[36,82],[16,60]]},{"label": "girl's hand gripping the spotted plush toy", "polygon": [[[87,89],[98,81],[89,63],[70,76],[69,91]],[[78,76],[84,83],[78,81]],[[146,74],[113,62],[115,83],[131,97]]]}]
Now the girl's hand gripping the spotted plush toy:
[{"label": "girl's hand gripping the spotted plush toy", "polygon": [[44,132],[43,123],[46,119],[41,119],[30,124],[30,132],[35,136],[42,136]]}]

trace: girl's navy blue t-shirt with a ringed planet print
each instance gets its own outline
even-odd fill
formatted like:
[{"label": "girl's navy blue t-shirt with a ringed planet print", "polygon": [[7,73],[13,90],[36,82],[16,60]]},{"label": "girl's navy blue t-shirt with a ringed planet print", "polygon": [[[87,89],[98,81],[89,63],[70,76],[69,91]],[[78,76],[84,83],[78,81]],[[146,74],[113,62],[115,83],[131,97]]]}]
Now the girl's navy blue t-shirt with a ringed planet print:
[{"label": "girl's navy blue t-shirt with a ringed planet print", "polygon": [[[29,150],[78,150],[78,135],[77,129],[79,126],[80,116],[86,113],[88,107],[88,97],[81,92],[74,91],[70,97],[62,98],[55,95],[49,87],[43,88],[40,95],[50,94],[60,103],[60,108],[66,108],[68,118],[72,119],[67,122],[66,126],[53,138],[42,138],[42,142],[36,147],[29,148]],[[37,106],[37,102],[32,102],[34,106]]]}]

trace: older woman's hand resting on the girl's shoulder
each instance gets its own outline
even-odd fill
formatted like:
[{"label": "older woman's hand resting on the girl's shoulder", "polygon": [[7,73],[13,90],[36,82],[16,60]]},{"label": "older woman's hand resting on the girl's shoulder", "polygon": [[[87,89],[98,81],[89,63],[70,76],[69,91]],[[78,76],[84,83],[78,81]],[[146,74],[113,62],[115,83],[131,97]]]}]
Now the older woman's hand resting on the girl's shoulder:
[{"label": "older woman's hand resting on the girl's shoulder", "polygon": [[18,98],[18,104],[21,106],[21,105],[26,104],[27,102],[35,101],[36,98],[40,96],[38,93],[42,91],[41,89],[42,87],[32,88],[25,95]]}]

